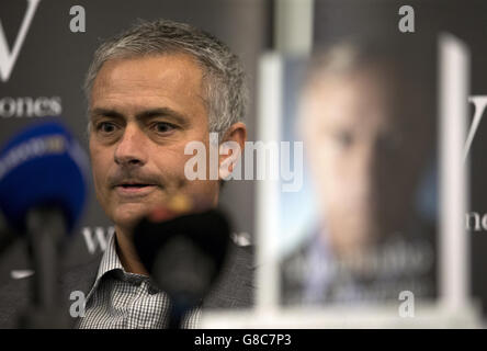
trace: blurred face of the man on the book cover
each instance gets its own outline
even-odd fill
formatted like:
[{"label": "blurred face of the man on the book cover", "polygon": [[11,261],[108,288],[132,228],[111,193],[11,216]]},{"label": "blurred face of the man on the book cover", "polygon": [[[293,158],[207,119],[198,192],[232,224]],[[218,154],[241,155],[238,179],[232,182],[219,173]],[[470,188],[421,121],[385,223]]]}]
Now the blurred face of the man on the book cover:
[{"label": "blurred face of the man on the book cover", "polygon": [[338,254],[404,229],[411,216],[432,116],[398,87],[380,69],[362,69],[308,89],[305,147]]}]

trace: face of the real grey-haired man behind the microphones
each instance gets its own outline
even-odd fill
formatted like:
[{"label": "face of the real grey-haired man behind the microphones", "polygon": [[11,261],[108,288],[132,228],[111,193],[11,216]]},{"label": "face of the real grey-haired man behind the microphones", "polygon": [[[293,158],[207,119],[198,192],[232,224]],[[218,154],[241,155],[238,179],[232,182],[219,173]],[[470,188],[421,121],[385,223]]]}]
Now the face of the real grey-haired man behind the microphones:
[{"label": "face of the real grey-haired man behind the microphones", "polygon": [[[174,194],[216,204],[217,181],[184,177],[189,141],[208,147],[203,73],[188,55],[106,61],[90,103],[97,197],[118,228],[131,228]],[[208,159],[208,157],[206,158]]]}]

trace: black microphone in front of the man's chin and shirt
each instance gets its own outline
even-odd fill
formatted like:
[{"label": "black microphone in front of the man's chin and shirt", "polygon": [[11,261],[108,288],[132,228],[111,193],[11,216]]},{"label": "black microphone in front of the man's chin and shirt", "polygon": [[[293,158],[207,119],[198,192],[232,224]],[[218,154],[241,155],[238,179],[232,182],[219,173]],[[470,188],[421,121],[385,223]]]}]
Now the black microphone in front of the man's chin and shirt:
[{"label": "black microphone in front of the man's chin and shirt", "polygon": [[149,216],[134,229],[141,263],[171,299],[170,329],[199,306],[223,269],[230,245],[230,225],[219,210],[173,217]]}]

